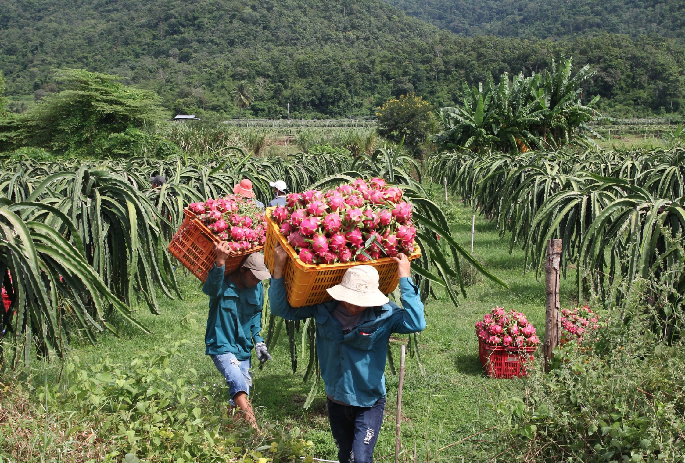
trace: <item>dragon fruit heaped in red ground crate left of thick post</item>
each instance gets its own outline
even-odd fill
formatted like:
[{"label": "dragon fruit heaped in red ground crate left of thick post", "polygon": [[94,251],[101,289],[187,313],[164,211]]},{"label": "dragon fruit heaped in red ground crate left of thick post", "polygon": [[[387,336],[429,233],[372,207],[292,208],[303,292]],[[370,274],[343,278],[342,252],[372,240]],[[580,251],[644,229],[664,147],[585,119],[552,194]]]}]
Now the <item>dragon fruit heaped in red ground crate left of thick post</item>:
[{"label": "dragon fruit heaped in red ground crate left of thick post", "polygon": [[505,312],[501,307],[485,314],[483,321],[475,324],[475,331],[479,340],[493,346],[534,347],[540,342],[525,314],[514,310]]}]

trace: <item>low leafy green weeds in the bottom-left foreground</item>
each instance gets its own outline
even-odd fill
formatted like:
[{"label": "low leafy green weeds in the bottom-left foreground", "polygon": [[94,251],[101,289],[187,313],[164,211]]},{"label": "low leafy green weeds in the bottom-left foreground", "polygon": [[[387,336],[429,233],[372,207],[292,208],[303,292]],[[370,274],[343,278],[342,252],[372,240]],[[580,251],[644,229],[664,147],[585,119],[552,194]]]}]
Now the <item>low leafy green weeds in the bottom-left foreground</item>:
[{"label": "low leafy green weeds in the bottom-left foreground", "polygon": [[[186,323],[195,321],[189,315]],[[299,429],[266,426],[259,434],[234,423],[227,388],[192,384],[197,372],[190,364],[184,373],[171,371],[169,361],[188,343],[171,340],[178,335],[179,329],[166,336],[169,345],[140,353],[129,367],[106,355],[85,366],[73,356],[55,384],[0,384],[0,454],[23,462],[266,463],[310,453],[313,444],[299,438]]]}]

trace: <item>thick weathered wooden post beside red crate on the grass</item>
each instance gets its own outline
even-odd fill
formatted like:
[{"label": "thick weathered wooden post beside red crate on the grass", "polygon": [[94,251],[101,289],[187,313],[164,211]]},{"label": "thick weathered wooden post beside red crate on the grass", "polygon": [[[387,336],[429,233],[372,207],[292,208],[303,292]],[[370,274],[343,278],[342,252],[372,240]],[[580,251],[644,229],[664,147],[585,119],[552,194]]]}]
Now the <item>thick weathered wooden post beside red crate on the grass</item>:
[{"label": "thick weathered wooden post beside red crate on the grass", "polygon": [[545,369],[553,358],[552,351],[559,345],[561,333],[561,303],[559,302],[559,277],[562,240],[547,240],[547,266],[545,268],[545,289],[547,305],[545,307]]}]

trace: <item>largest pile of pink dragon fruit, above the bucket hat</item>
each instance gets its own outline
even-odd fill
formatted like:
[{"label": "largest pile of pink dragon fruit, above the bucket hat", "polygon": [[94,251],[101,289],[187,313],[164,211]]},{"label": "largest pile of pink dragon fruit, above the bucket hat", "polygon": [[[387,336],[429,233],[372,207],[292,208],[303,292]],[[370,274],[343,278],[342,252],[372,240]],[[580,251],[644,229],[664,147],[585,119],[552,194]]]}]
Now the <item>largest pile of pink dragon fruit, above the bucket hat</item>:
[{"label": "largest pile of pink dragon fruit, above the bucket hat", "polygon": [[291,193],[271,218],[305,264],[366,262],[414,251],[412,206],[383,179]]}]

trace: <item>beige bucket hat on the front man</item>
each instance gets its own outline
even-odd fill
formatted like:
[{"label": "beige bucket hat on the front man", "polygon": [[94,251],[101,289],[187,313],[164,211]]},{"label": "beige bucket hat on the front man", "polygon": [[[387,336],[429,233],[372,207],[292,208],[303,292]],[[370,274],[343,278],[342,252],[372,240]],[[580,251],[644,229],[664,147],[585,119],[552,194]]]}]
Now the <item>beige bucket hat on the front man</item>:
[{"label": "beige bucket hat on the front man", "polygon": [[375,307],[390,301],[378,290],[378,271],[370,265],[348,268],[343,281],[327,292],[336,301],[345,301],[360,307]]}]

